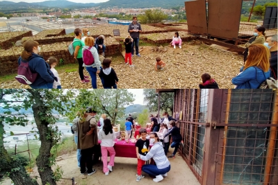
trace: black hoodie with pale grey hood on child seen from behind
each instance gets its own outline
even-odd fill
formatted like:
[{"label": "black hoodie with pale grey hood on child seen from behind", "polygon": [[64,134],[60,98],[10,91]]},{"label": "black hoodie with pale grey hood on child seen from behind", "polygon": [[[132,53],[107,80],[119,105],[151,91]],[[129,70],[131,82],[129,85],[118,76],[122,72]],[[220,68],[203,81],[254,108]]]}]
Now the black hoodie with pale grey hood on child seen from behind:
[{"label": "black hoodie with pale grey hood on child seen from behind", "polygon": [[99,77],[104,79],[104,87],[113,87],[116,85],[116,82],[119,81],[119,79],[117,79],[117,74],[111,67],[101,69]]}]

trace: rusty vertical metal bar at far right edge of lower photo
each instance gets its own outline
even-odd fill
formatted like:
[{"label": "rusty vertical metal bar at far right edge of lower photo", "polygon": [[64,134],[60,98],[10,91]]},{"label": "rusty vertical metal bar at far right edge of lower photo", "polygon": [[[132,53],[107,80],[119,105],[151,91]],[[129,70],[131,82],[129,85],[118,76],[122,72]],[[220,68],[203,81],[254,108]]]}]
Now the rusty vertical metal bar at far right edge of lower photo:
[{"label": "rusty vertical metal bar at far right edge of lower photo", "polygon": [[[273,125],[278,126],[278,91],[276,91],[274,102],[275,103],[273,104],[272,123]],[[265,162],[264,185],[268,185],[268,183],[270,182],[271,165],[273,162],[273,156],[275,154],[276,136],[277,136],[277,127],[270,127],[269,144],[267,150],[268,152],[266,154],[268,160],[266,160]]]}]

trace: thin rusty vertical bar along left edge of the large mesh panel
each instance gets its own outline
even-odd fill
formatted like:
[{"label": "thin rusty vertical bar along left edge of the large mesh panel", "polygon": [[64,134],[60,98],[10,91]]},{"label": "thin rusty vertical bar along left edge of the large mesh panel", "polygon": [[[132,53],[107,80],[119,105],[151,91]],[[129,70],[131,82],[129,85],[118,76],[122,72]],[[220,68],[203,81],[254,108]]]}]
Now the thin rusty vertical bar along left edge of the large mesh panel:
[{"label": "thin rusty vertical bar along left edge of the large mesh panel", "polygon": [[[226,107],[226,115],[225,115],[225,124],[224,125],[227,125],[228,124],[228,121],[229,121],[229,109],[230,109],[230,102],[231,102],[231,89],[228,89],[228,96],[227,96],[227,107]],[[223,139],[223,150],[222,150],[222,160],[221,160],[221,170],[220,170],[220,181],[219,181],[219,184],[222,184],[222,180],[223,180],[223,172],[224,172],[224,161],[225,161],[225,154],[226,154],[226,143],[227,143],[227,130],[228,130],[228,127],[226,126],[224,128],[224,139]]]}]

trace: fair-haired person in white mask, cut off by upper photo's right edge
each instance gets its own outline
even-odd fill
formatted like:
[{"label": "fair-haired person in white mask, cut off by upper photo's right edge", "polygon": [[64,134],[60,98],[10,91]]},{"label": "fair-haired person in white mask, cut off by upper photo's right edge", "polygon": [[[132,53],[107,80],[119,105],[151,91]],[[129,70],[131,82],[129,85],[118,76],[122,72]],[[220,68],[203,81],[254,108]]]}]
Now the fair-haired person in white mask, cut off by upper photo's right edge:
[{"label": "fair-haired person in white mask, cut off by upper photo's right edge", "polygon": [[270,76],[277,80],[277,35],[268,37],[265,46],[270,49]]}]

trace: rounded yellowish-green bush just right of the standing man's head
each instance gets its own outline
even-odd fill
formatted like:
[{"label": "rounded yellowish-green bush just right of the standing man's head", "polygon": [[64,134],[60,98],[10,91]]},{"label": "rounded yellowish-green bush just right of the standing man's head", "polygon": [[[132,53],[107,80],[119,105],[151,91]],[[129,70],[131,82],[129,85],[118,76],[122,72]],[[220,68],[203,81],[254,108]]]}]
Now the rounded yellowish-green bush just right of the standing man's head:
[{"label": "rounded yellowish-green bush just right of the standing man's head", "polygon": [[145,15],[140,15],[138,17],[140,23],[142,24],[155,24],[161,23],[163,20],[167,19],[167,15],[161,10],[146,10]]}]

